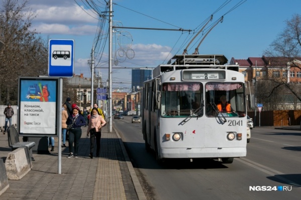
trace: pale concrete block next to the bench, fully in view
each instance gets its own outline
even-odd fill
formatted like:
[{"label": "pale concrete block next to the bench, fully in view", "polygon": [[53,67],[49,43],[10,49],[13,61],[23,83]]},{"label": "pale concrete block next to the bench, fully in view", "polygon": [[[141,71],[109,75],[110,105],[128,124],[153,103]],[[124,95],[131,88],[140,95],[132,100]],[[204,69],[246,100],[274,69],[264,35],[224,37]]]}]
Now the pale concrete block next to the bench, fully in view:
[{"label": "pale concrete block next to the bench, fully in view", "polygon": [[27,147],[20,147],[10,152],[5,161],[9,180],[20,180],[32,169],[32,162]]}]

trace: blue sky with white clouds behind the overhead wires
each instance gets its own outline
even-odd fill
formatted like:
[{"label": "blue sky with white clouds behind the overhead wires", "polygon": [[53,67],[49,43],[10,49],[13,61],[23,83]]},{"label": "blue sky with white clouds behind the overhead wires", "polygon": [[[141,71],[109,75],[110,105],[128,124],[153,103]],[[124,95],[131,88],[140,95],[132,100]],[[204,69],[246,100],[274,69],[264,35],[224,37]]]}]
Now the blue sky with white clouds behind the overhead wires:
[{"label": "blue sky with white clouds behind the overhead wires", "polygon": [[[113,88],[123,91],[131,87],[132,68],[152,69],[182,54],[211,15],[213,20],[187,48],[188,54],[204,39],[199,54],[222,54],[229,63],[231,58],[262,57],[284,30],[285,21],[301,14],[299,0],[112,0],[112,3],[114,26],[135,28],[113,30],[112,82]],[[29,0],[28,6],[37,15],[32,28],[45,40],[74,40],[76,75],[91,77],[88,62],[94,46],[94,71],[99,71],[104,82],[108,80],[109,39],[105,33],[109,14],[105,12],[105,0]],[[96,13],[103,16],[101,31]],[[217,23],[222,16],[222,23]],[[184,31],[171,31],[179,29]],[[97,37],[99,32],[103,34]]]}]

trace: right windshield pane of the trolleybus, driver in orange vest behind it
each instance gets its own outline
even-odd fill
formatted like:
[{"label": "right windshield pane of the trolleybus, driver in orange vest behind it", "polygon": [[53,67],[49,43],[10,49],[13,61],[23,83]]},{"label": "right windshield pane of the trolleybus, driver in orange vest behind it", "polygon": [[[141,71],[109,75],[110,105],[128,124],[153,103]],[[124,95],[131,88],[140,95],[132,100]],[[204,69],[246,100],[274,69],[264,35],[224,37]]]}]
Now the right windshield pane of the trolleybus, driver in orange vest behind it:
[{"label": "right windshield pane of the trolleybus, driver in orange vest behind it", "polygon": [[[246,115],[243,83],[207,83],[206,115],[237,117]],[[222,102],[223,100],[224,102]]]}]

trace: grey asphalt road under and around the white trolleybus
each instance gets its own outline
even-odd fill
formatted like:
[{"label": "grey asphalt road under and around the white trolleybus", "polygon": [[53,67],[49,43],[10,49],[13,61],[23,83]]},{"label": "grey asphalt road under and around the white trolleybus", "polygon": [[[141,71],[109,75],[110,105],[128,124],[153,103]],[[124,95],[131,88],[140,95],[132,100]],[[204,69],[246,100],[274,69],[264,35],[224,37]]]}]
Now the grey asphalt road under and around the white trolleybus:
[{"label": "grey asphalt road under and around the white trolleybus", "polygon": [[[235,158],[232,164],[194,159],[193,162],[168,160],[159,165],[154,154],[147,153],[144,148],[142,124],[132,124],[130,116],[113,121],[148,199],[300,198],[299,130],[253,128],[251,141],[247,144],[247,156]],[[278,186],[284,186],[284,191],[275,191],[281,188]]]}]

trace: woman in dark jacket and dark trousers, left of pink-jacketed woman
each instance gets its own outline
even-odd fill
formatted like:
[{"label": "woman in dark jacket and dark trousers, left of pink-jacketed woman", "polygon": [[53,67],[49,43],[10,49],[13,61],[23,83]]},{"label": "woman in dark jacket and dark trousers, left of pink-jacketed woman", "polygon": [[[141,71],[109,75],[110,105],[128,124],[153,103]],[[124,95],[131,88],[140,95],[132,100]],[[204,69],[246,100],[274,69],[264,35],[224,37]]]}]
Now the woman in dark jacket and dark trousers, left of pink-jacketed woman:
[{"label": "woman in dark jacket and dark trousers, left of pink-jacketed woman", "polygon": [[[81,137],[81,126],[86,124],[82,114],[79,112],[78,106],[72,109],[72,114],[68,116],[66,121],[69,130],[69,155],[68,157],[77,157],[79,139]],[[74,147],[73,147],[74,142]]]}]

